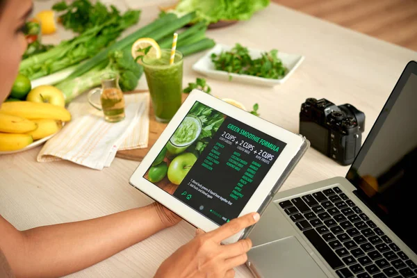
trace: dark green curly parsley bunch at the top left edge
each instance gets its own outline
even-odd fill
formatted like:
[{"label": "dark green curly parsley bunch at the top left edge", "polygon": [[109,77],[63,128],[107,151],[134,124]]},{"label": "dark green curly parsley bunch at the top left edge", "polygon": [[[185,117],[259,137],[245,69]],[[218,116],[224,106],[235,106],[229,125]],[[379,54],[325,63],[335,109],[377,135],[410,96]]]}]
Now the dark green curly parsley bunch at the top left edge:
[{"label": "dark green curly parsley bunch at the top left edge", "polygon": [[104,24],[109,20],[122,20],[126,14],[139,17],[140,10],[128,10],[122,15],[120,10],[111,5],[110,10],[104,3],[97,1],[91,3],[90,0],[75,0],[67,4],[65,0],[56,3],[52,9],[60,13],[58,21],[63,24],[66,29],[76,33],[83,33],[94,26]]}]

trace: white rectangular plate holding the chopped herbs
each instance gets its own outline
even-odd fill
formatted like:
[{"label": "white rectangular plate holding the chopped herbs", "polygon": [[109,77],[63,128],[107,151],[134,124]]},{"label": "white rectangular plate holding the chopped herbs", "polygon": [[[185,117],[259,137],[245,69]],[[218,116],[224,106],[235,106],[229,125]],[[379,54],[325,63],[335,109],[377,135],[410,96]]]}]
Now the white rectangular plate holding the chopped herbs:
[{"label": "white rectangular plate holding the chopped herbs", "polygon": [[[215,70],[213,62],[211,62],[211,54],[220,54],[222,51],[230,51],[233,47],[229,47],[224,44],[216,44],[213,49],[208,51],[206,55],[200,58],[197,63],[193,65],[193,70],[204,74],[205,76],[212,77],[213,79],[219,79],[224,81],[229,81],[229,75],[231,75],[231,81],[237,81],[242,83],[250,83],[256,85],[265,85],[273,87],[275,85],[284,83],[288,80],[288,78],[293,74],[293,72],[297,69],[298,66],[304,60],[304,56],[298,54],[287,54],[284,52],[278,51],[278,58],[282,60],[282,63],[288,68],[288,72],[286,75],[281,79],[265,79],[263,77],[258,76],[250,76],[246,74],[234,74],[229,72],[224,72],[221,70]],[[249,49],[250,56],[252,58],[259,58],[261,57],[261,53],[265,52],[265,50],[258,50],[258,49]]]}]

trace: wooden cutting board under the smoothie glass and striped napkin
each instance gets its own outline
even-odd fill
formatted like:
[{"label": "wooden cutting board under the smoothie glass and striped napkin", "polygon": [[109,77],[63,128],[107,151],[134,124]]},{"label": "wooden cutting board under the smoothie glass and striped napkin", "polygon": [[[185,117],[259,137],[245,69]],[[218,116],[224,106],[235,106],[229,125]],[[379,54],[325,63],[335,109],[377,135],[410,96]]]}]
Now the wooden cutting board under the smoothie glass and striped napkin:
[{"label": "wooden cutting board under the smoothie glass and striped napkin", "polygon": [[[138,92],[138,91],[136,91]],[[182,94],[182,101],[186,100],[188,94]],[[119,151],[116,154],[116,157],[128,159],[131,161],[142,161],[142,159],[149,152],[149,149],[154,145],[159,136],[161,136],[162,131],[165,129],[167,124],[156,121],[154,114],[154,108],[152,107],[152,100],[149,104],[149,141],[148,146],[144,149],[129,149],[126,151]]]}]

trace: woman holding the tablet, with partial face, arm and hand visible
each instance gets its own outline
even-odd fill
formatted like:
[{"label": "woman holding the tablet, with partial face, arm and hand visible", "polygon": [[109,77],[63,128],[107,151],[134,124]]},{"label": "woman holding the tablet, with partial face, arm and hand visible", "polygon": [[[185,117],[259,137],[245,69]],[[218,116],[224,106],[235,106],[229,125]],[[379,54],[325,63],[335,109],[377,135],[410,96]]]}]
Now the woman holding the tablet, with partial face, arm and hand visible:
[{"label": "woman holding the tablet, with partial face, arm and hand visible", "polygon": [[[31,0],[0,0],[0,105],[17,76],[26,49],[22,29],[31,14]],[[1,212],[0,212],[1,213]],[[18,231],[0,216],[0,277],[61,277],[98,263],[180,218],[161,206],[101,218]],[[195,238],[167,258],[155,277],[234,277],[234,267],[245,263],[250,239],[231,245],[220,242],[259,220],[250,213]]]}]

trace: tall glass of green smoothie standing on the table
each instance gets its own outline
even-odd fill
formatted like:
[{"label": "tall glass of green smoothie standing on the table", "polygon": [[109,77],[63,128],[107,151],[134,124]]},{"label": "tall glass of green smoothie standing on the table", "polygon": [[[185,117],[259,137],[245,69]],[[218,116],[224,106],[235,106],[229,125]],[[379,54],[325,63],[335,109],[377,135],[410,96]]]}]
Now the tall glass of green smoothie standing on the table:
[{"label": "tall glass of green smoothie standing on the table", "polygon": [[156,120],[169,122],[181,106],[183,55],[176,51],[170,65],[170,49],[161,49],[161,58],[145,56],[142,65]]}]

